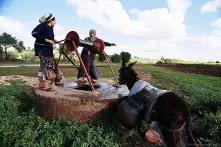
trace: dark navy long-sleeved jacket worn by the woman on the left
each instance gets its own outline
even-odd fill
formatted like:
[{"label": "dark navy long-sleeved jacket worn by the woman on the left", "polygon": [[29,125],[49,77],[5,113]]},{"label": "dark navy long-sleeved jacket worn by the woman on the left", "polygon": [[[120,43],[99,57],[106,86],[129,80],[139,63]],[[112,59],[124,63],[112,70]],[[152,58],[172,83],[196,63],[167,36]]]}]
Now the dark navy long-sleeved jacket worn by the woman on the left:
[{"label": "dark navy long-sleeved jacket worn by the woman on the left", "polygon": [[53,46],[45,41],[45,39],[54,40],[53,28],[45,23],[41,23],[34,28],[32,36],[36,38],[34,46],[35,56],[38,56],[41,51],[42,56],[53,57]]}]

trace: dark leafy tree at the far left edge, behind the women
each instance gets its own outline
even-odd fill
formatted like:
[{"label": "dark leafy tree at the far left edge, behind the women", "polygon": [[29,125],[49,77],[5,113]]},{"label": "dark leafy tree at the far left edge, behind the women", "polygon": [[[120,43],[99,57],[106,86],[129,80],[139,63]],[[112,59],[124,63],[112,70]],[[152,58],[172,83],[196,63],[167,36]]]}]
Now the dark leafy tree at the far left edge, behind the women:
[{"label": "dark leafy tree at the far left edge, behind the women", "polygon": [[7,60],[7,49],[10,47],[14,47],[18,51],[22,51],[25,49],[23,41],[18,41],[15,37],[12,37],[10,34],[6,32],[0,35],[0,45],[5,52],[5,59]]}]

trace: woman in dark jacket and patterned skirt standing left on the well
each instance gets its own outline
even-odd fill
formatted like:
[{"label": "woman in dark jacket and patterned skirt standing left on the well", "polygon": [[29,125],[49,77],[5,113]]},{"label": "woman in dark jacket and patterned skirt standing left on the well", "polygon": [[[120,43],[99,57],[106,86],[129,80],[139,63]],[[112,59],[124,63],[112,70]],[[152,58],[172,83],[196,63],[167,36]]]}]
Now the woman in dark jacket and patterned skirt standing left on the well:
[{"label": "woman in dark jacket and patterned skirt standing left on the well", "polygon": [[[34,48],[35,56],[40,58],[39,88],[52,90],[52,82],[60,82],[61,74],[57,68],[54,55],[53,44],[58,43],[54,39],[54,26],[56,19],[53,14],[48,13],[39,19],[40,24],[32,31],[32,36],[36,38]],[[49,81],[51,84],[49,85]]]}]

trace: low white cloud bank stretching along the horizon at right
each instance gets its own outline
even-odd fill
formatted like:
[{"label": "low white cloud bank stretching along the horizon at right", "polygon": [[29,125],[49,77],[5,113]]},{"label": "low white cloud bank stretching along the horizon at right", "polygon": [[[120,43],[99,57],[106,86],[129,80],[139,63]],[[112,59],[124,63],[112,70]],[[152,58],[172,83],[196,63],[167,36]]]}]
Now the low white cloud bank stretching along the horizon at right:
[{"label": "low white cloud bank stretching along the horizon at right", "polygon": [[[126,49],[132,55],[139,57],[160,59],[176,58],[183,60],[221,60],[221,31],[217,30],[209,34],[186,35],[182,40],[173,43],[168,41],[142,40],[122,45],[119,48]],[[122,50],[120,50],[122,51]],[[118,50],[118,52],[120,52]]]}]

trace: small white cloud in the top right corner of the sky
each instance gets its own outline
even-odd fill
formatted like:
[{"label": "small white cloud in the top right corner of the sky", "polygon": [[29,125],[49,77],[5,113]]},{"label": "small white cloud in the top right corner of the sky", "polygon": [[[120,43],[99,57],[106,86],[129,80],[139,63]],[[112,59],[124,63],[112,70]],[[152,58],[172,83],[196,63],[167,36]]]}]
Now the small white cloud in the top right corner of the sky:
[{"label": "small white cloud in the top right corner of the sky", "polygon": [[209,0],[202,5],[201,12],[217,12],[221,8],[221,0]]}]

